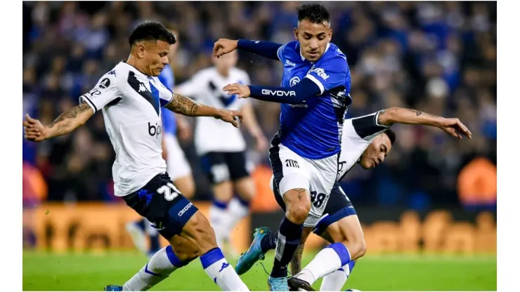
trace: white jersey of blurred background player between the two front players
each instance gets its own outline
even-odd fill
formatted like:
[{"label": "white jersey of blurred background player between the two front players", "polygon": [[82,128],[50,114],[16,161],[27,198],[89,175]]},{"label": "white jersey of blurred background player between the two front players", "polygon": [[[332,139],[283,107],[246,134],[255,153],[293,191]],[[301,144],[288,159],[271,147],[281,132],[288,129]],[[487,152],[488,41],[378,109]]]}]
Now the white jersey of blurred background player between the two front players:
[{"label": "white jersey of blurred background player between the two front players", "polygon": [[[176,92],[212,107],[240,110],[249,100],[238,98],[238,95],[228,95],[222,90],[224,86],[233,83],[249,85],[249,75],[244,70],[233,67],[228,77],[223,77],[215,67],[210,67],[200,70],[190,80],[176,86]],[[245,147],[246,143],[240,128],[230,127],[213,117],[197,117],[197,126],[195,126],[197,154],[240,152],[244,151]]]}]

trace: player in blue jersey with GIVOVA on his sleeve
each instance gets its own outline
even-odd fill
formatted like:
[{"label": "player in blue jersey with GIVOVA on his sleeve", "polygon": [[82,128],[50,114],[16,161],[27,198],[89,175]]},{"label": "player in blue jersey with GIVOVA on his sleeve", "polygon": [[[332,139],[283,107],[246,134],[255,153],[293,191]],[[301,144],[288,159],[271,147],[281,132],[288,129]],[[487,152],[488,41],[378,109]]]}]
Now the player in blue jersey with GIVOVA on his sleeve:
[{"label": "player in blue jersey with GIVOVA on his sleeve", "polygon": [[[351,104],[349,66],[344,53],[330,43],[327,8],[321,4],[300,6],[294,36],[297,40],[285,45],[244,39],[219,39],[214,45],[217,58],[240,48],[280,60],[284,66],[280,87],[230,84],[223,88],[240,98],[282,104],[280,131],[271,142],[269,158],[275,186],[287,209],[268,279],[271,291],[288,291],[287,265],[300,243],[303,227],[315,226],[323,215],[337,178],[344,116]],[[348,245],[329,247],[337,258],[334,262],[348,263],[356,256]]]}]

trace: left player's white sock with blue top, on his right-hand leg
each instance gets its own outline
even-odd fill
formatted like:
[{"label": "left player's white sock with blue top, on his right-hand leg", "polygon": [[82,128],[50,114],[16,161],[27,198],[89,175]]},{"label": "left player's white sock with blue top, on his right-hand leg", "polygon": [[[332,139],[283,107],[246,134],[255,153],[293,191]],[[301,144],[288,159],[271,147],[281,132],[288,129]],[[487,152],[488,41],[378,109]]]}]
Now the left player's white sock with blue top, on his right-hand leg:
[{"label": "left player's white sock with blue top, on his right-hand leg", "polygon": [[200,263],[204,272],[211,278],[223,291],[249,291],[235,269],[228,263],[220,248],[213,248],[211,251],[200,256]]}]

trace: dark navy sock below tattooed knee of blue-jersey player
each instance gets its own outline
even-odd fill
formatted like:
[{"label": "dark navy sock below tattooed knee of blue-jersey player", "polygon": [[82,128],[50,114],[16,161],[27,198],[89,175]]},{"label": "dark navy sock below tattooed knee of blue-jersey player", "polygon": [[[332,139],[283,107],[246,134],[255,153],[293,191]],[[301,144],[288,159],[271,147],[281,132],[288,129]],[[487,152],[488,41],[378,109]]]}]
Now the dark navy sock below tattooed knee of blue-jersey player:
[{"label": "dark navy sock below tattooed knee of blue-jersey player", "polygon": [[301,241],[303,224],[292,223],[287,217],[282,219],[278,230],[278,241],[276,242],[276,253],[271,277],[287,277],[287,265],[289,265],[294,251]]}]

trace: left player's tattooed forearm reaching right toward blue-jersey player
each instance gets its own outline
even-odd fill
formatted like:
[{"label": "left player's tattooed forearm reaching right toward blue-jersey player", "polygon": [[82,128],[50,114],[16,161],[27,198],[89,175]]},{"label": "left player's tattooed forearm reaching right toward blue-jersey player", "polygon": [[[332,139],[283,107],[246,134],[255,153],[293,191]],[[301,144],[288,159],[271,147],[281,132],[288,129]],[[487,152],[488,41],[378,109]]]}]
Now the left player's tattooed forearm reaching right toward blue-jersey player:
[{"label": "left player's tattooed forearm reaching right toward blue-jersey player", "polygon": [[235,117],[238,117],[240,122],[242,122],[242,113],[239,111],[209,107],[177,93],[174,93],[171,102],[164,107],[172,112],[188,117],[214,117],[215,119],[221,119],[222,121],[227,121],[228,123],[233,124],[235,128],[238,128],[238,121]]}]

